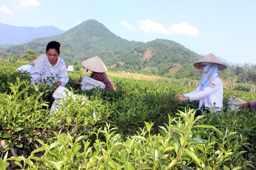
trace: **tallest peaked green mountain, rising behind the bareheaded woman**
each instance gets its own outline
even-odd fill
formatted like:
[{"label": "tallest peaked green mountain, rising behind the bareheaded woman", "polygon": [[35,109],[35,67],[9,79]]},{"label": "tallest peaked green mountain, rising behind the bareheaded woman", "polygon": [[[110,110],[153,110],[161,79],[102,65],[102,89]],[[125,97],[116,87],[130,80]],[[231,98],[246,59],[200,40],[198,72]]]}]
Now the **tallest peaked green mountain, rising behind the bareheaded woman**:
[{"label": "tallest peaked green mountain, rising behind the bareheaded woman", "polygon": [[90,19],[59,35],[38,38],[11,48],[2,48],[0,55],[22,55],[26,49],[34,50],[40,55],[45,53],[47,43],[53,40],[60,42],[61,56],[69,61],[81,61],[95,55],[103,58],[113,57],[116,53],[143,44],[122,39],[110,32],[103,24]]}]

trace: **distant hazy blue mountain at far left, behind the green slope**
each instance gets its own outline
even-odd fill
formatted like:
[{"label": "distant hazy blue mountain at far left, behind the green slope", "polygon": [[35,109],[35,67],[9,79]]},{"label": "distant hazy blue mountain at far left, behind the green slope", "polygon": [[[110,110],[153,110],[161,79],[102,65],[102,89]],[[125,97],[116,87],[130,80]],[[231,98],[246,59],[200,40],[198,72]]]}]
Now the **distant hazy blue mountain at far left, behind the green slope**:
[{"label": "distant hazy blue mountain at far left, behind the green slope", "polygon": [[53,27],[16,27],[0,23],[0,46],[19,45],[35,38],[49,37],[63,33],[64,31]]}]

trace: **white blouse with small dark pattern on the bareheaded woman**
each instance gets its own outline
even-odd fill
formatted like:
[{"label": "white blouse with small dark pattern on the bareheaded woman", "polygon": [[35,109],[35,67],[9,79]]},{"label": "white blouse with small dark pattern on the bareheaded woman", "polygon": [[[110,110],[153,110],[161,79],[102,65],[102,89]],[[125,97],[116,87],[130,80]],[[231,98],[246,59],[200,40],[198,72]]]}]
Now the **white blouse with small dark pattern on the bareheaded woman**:
[{"label": "white blouse with small dark pattern on the bareheaded woman", "polygon": [[63,59],[58,58],[56,65],[52,66],[48,57],[43,57],[35,64],[34,72],[32,73],[31,82],[48,85],[53,85],[57,80],[61,81],[61,85],[65,86],[68,83],[68,71]]}]

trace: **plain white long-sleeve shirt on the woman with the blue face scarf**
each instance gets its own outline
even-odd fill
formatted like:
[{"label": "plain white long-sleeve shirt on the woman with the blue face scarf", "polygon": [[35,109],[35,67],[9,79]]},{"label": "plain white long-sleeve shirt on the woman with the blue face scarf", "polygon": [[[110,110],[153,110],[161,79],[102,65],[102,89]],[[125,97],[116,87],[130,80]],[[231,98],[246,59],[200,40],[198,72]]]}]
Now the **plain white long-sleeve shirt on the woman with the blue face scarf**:
[{"label": "plain white long-sleeve shirt on the woman with the blue face scarf", "polygon": [[218,74],[215,74],[208,87],[201,91],[200,88],[197,87],[196,90],[186,93],[184,96],[188,96],[189,101],[199,100],[198,109],[201,109],[204,105],[209,108],[215,107],[214,111],[221,110],[223,106],[223,85],[221,79],[218,77]]}]

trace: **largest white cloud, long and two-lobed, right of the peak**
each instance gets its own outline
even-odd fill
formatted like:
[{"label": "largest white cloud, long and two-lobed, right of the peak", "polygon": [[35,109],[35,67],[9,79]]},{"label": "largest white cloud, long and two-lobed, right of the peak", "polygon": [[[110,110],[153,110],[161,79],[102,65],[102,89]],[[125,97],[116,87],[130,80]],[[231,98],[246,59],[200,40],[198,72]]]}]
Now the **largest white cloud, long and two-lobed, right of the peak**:
[{"label": "largest white cloud, long and two-lobed, right of the peak", "polygon": [[198,36],[199,30],[198,28],[192,27],[188,23],[180,23],[173,25],[169,28],[165,28],[164,25],[160,23],[156,23],[150,19],[141,20],[139,22],[140,29],[150,33],[150,32],[158,32],[162,34],[169,34],[169,35],[188,35],[188,36]]}]

